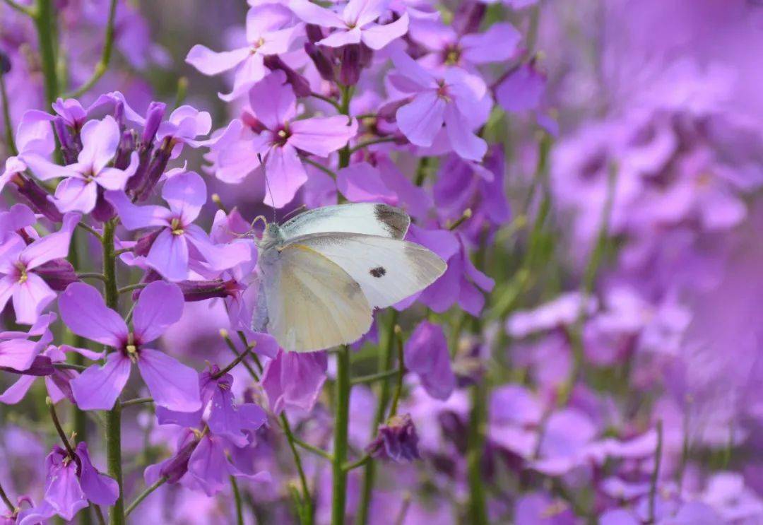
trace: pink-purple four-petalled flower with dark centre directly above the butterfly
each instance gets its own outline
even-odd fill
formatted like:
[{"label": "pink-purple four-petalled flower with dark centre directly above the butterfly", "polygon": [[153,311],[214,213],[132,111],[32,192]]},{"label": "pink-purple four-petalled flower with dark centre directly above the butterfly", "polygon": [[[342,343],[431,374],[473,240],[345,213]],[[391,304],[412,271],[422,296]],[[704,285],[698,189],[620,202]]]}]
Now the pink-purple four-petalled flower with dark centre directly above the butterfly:
[{"label": "pink-purple four-petalled flower with dark centre directly above the butterfly", "polygon": [[240,182],[259,165],[257,155],[262,155],[269,182],[264,202],[273,202],[275,208],[287,205],[307,181],[299,151],[326,157],[343,147],[358,129],[357,121],[344,115],[296,120],[296,97],[285,81],[284,72],[276,71],[257,82],[250,91],[254,118],[244,118],[253,121],[254,134],[235,120],[213,147],[215,175],[226,182]]}]

